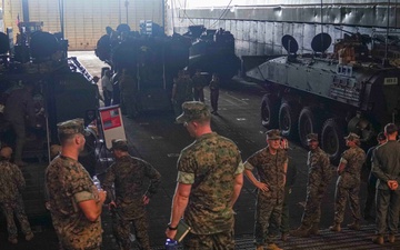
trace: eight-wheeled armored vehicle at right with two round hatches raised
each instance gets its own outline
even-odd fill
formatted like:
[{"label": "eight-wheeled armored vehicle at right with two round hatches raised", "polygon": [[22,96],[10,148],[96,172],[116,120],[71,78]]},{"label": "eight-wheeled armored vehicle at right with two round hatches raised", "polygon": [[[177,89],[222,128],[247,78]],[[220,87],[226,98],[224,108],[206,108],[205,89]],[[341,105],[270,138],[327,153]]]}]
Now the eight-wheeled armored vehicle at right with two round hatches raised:
[{"label": "eight-wheeled armored vehicle at right with two round hatches raised", "polygon": [[332,39],[317,34],[312,54],[298,56],[298,43],[283,36],[287,56],[249,69],[247,76],[267,89],[261,120],[283,136],[300,139],[319,133],[320,146],[331,160],[340,159],[348,132],[360,136],[363,146],[373,143],[386,123],[399,123],[400,71],[369,54],[364,36],[346,36],[327,54]]}]

